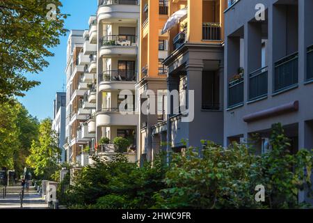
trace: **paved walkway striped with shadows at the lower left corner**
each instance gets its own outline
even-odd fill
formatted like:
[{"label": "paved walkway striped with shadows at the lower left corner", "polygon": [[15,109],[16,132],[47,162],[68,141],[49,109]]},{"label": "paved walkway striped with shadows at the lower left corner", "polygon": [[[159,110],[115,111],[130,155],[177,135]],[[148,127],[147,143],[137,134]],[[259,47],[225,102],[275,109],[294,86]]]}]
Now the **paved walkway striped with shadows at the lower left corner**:
[{"label": "paved walkway striped with shadows at the lower left corner", "polygon": [[[8,187],[9,188],[9,187]],[[10,190],[10,189],[8,189]],[[0,209],[20,209],[19,192],[8,192],[6,198],[3,199],[2,193],[0,194]],[[47,209],[48,205],[42,199],[40,194],[35,191],[29,190],[24,192],[23,209]]]}]

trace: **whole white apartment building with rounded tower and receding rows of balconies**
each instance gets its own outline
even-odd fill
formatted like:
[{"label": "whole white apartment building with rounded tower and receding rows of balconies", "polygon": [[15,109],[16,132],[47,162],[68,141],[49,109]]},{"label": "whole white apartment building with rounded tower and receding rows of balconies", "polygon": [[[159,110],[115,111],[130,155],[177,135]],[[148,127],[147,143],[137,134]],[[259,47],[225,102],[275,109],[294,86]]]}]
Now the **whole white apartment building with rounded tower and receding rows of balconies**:
[{"label": "whole white apartment building with rounded tower and receding rows of balconies", "polygon": [[[125,107],[127,115],[119,107],[127,97],[135,103],[139,14],[138,1],[98,1],[89,29],[70,34],[65,71],[69,162],[84,166],[91,155],[114,155],[115,137],[132,141],[125,154],[136,162],[138,115],[134,105]],[[123,90],[128,93],[121,98]]]}]

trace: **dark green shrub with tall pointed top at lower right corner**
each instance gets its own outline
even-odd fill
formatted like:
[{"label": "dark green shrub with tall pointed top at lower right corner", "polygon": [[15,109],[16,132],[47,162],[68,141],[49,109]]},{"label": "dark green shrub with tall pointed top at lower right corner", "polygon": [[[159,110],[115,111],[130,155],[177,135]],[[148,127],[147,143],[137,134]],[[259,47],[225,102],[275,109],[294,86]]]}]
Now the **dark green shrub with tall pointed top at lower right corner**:
[{"label": "dark green shrub with tall pointed top at lower right corner", "polygon": [[266,188],[268,208],[298,208],[298,191],[312,187],[313,153],[300,150],[291,154],[290,141],[284,136],[280,123],[273,125],[272,129],[271,151],[258,157],[255,162],[257,174],[252,180]]}]

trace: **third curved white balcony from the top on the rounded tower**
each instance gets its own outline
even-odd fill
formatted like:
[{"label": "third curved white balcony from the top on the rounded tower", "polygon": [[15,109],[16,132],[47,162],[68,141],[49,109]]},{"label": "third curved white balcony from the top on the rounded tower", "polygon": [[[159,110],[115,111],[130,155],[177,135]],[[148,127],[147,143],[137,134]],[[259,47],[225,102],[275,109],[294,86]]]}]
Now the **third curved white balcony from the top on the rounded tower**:
[{"label": "third curved white balcony from the top on the rounded tower", "polygon": [[99,91],[134,89],[135,70],[106,70],[100,74]]}]

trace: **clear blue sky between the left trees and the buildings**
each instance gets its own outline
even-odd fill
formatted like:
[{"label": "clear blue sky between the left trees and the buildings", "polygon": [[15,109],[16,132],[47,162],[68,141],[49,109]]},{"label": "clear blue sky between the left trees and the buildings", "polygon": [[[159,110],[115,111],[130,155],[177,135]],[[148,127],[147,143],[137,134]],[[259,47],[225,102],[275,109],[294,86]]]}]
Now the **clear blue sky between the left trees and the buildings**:
[{"label": "clear blue sky between the left trees and the buildings", "polygon": [[[66,29],[88,29],[88,19],[90,15],[95,15],[97,10],[97,0],[61,0],[63,13],[70,14],[65,20]],[[37,116],[39,120],[52,117],[53,100],[57,91],[63,91],[63,84],[66,82],[66,47],[67,36],[61,38],[61,44],[51,49],[54,57],[47,59],[50,65],[37,75],[27,75],[29,79],[41,82],[26,92],[24,98],[18,98],[19,102],[29,110],[32,116]],[[66,89],[66,88],[65,88]]]}]

